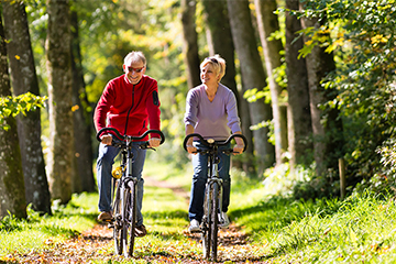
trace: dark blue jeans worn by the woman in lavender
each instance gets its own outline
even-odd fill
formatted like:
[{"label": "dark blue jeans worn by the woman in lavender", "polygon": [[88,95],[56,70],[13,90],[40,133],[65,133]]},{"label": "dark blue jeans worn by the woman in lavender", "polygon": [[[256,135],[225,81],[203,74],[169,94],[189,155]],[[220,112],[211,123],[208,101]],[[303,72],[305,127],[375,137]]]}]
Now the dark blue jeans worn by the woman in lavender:
[{"label": "dark blue jeans worn by the woman in lavender", "polygon": [[[199,142],[194,142],[194,145],[199,150],[207,150],[208,147]],[[220,146],[218,155],[220,157],[219,163],[219,177],[223,180],[223,199],[222,211],[227,212],[230,205],[230,156],[221,153],[221,150],[230,148],[230,145]],[[188,209],[188,218],[190,220],[196,219],[199,222],[204,216],[204,198],[205,187],[208,179],[208,155],[196,154],[193,155],[194,176],[191,184],[191,198]]]}]

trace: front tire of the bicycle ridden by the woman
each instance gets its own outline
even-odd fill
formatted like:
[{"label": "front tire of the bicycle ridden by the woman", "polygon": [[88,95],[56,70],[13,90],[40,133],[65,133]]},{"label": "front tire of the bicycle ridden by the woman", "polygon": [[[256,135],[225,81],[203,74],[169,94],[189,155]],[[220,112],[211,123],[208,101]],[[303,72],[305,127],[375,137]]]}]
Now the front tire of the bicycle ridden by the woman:
[{"label": "front tire of the bicycle ridden by the woman", "polygon": [[210,211],[210,258],[217,262],[217,246],[218,246],[218,230],[219,230],[219,184],[213,183],[212,185],[212,197],[211,197],[211,211]]}]

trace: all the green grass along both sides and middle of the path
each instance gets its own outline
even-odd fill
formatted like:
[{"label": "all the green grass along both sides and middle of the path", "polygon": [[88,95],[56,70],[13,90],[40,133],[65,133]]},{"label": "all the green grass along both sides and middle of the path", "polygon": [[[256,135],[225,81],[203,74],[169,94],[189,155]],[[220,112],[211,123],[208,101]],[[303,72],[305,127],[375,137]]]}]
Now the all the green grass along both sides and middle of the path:
[{"label": "all the green grass along both sides and middle of the path", "polygon": [[[156,179],[182,183],[188,190],[189,170],[168,165],[147,167]],[[396,205],[393,197],[369,193],[340,201],[296,201],[270,197],[258,180],[232,172],[229,216],[249,234],[249,244],[224,248],[222,257],[261,260],[267,263],[394,263],[396,260]],[[54,216],[29,211],[26,220],[7,217],[0,222],[0,263],[12,254],[41,252],[75,238],[96,223],[96,194],[74,196],[67,207],[54,207]],[[172,190],[145,188],[144,222],[150,234],[136,243],[134,263],[177,262],[201,258],[200,244],[184,231],[188,226],[187,202]],[[48,243],[51,241],[52,243]],[[91,263],[127,263],[114,260],[112,242]],[[147,261],[148,260],[148,261]],[[155,261],[153,261],[155,260]]]}]

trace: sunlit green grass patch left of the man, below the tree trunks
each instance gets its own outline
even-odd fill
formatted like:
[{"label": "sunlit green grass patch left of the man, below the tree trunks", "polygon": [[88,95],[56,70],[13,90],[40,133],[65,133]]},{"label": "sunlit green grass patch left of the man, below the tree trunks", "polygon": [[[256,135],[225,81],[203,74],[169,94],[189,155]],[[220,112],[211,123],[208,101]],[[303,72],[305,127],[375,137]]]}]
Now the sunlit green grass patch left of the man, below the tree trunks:
[{"label": "sunlit green grass patch left of the man, below the tree trunks", "polygon": [[76,237],[94,227],[94,200],[97,200],[96,195],[82,194],[73,196],[67,207],[54,206],[53,216],[41,217],[28,209],[28,219],[4,217],[0,222],[0,257],[45,250],[48,244]]}]

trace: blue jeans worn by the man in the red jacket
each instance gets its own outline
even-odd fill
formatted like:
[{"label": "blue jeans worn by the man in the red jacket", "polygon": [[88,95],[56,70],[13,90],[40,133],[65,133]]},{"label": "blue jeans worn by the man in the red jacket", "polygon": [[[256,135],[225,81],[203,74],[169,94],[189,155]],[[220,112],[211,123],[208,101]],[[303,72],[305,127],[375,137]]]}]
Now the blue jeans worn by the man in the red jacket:
[{"label": "blue jeans worn by the man in the red jacket", "polygon": [[[146,150],[139,148],[139,145],[144,142],[133,142],[133,166],[132,176],[138,178],[138,226],[143,224],[142,202],[143,202],[143,184],[142,172],[146,155]],[[98,175],[98,189],[99,189],[99,211],[111,211],[111,169],[116,156],[119,154],[120,148],[99,144],[99,156],[97,160],[97,175]]]}]

